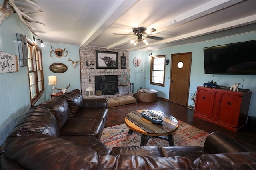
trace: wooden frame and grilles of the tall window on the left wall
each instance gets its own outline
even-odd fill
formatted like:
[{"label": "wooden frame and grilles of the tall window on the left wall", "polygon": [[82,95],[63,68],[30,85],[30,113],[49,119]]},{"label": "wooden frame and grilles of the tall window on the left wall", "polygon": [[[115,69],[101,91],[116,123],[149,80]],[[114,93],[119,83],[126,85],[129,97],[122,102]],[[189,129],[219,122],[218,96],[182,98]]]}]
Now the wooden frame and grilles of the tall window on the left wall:
[{"label": "wooden frame and grilles of the tall window on the left wall", "polygon": [[[30,103],[31,103],[31,106],[33,106],[37,101],[38,99],[40,99],[40,97],[42,96],[42,94],[44,93],[45,91],[45,88],[44,88],[44,70],[43,70],[43,63],[42,63],[42,50],[41,48],[36,45],[36,43],[32,42],[32,40],[30,40],[27,36],[26,36],[26,41],[27,41],[27,47],[30,46],[32,47],[32,57],[33,57],[33,67],[36,68],[36,70],[33,70],[33,71],[30,71],[29,68],[27,67],[28,69],[28,84],[29,84],[29,92],[30,92]],[[39,91],[39,85],[38,85],[38,69],[37,69],[37,63],[36,63],[36,53],[37,51],[39,52],[40,51],[40,66],[41,66],[41,81],[42,81],[42,89]],[[29,59],[28,59],[29,60]],[[30,89],[30,76],[29,74],[34,72],[36,75],[36,95],[32,98],[31,97],[31,89]]]}]

